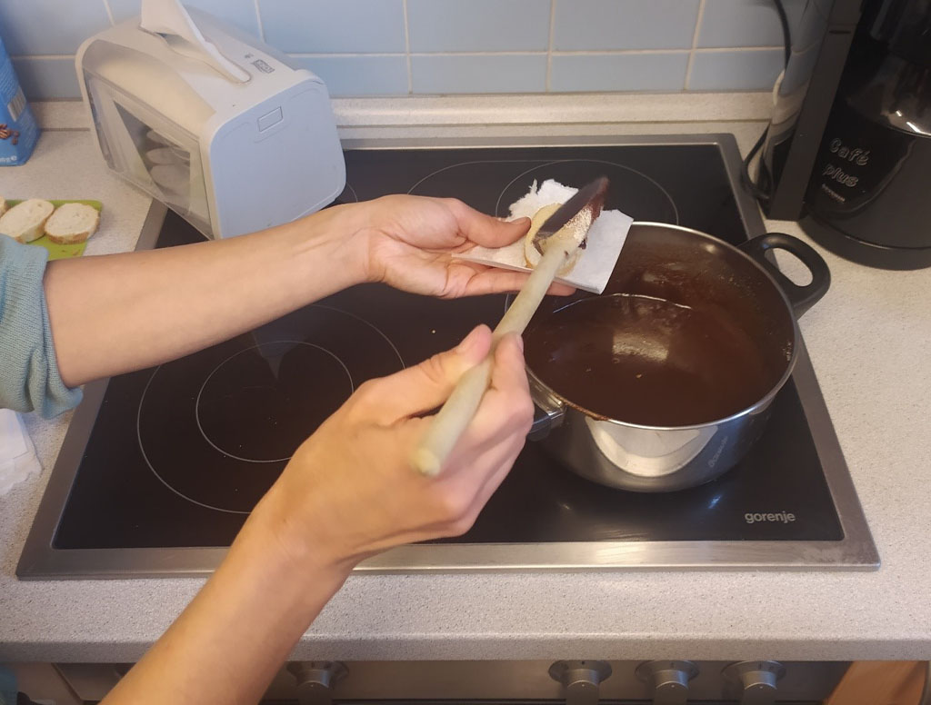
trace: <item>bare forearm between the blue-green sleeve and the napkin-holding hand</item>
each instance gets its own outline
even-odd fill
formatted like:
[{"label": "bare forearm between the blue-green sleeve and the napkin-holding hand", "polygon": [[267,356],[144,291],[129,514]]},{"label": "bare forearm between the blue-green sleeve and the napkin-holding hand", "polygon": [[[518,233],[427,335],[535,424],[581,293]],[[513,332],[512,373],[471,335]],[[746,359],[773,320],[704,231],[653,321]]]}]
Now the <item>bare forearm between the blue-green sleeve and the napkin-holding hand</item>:
[{"label": "bare forearm between the blue-green sleeve and the napkin-holding hand", "polygon": [[356,207],[228,240],[51,262],[61,378],[76,386],[157,365],[357,284]]}]

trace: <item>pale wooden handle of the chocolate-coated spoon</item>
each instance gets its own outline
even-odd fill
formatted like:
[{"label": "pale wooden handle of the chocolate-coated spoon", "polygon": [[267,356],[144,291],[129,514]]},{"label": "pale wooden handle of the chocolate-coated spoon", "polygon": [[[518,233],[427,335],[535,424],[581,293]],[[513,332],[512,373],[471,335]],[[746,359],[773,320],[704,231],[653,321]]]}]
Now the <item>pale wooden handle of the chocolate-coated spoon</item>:
[{"label": "pale wooden handle of the chocolate-coated spoon", "polygon": [[564,239],[565,243],[552,243],[547,246],[543,258],[537,262],[501,322],[495,326],[492,333],[492,349],[488,356],[459,378],[450,398],[439,409],[424,437],[414,448],[412,465],[417,471],[425,475],[436,475],[449,458],[452,448],[475,416],[481,397],[488,389],[492,378],[494,350],[498,342],[508,333],[523,333],[533,318],[533,313],[536,313],[540,301],[546,296],[553,279],[556,278],[556,273],[575,251],[576,243],[571,238]]}]

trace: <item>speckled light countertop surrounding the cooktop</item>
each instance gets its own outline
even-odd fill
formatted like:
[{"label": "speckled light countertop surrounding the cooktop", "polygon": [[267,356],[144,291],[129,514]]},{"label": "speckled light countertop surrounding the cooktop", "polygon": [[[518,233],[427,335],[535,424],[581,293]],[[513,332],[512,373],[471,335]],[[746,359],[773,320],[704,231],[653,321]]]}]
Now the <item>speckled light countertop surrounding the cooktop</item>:
[{"label": "speckled light countertop surrounding the cooktop", "polygon": [[[397,101],[337,101],[337,114],[354,138],[733,132],[744,152],[765,115],[759,95],[619,100],[608,104],[616,123],[603,97],[573,97],[590,108],[574,113],[536,98],[519,100],[530,125],[489,120],[491,98],[458,125],[466,103],[453,99],[445,109],[441,99],[423,103],[433,117],[420,122]],[[69,122],[74,104],[38,112],[46,124],[79,124]],[[88,254],[131,249],[149,203],[105,171],[82,129],[46,131],[27,165],[0,169],[0,194],[100,199]],[[768,225],[807,239],[794,223]],[[801,327],[880,570],[360,575],[295,658],[931,658],[931,270],[872,270],[818,249],[832,284]],[[16,579],[70,418],[26,417],[46,471],[0,498],[0,661],[135,660],[203,582]]]}]

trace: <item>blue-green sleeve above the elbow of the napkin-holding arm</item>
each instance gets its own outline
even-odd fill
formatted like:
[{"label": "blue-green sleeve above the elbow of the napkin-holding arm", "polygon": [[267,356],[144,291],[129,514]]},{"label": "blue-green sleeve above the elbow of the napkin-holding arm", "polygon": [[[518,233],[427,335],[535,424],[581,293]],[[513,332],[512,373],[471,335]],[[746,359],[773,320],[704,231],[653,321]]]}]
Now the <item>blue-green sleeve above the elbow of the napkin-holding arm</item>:
[{"label": "blue-green sleeve above the elbow of the napkin-holding arm", "polygon": [[48,251],[0,234],[0,407],[46,419],[81,401],[61,381],[42,277]]}]

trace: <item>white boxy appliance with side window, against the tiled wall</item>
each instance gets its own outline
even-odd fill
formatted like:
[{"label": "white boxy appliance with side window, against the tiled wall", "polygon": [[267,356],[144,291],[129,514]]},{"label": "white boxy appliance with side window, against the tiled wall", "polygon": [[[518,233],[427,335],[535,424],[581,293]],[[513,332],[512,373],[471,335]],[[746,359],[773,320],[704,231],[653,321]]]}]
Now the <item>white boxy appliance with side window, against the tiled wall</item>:
[{"label": "white boxy appliance with side window, against the tiled wall", "polygon": [[177,0],[90,37],[75,58],[101,153],[208,237],[331,203],[345,164],[327,87]]}]

